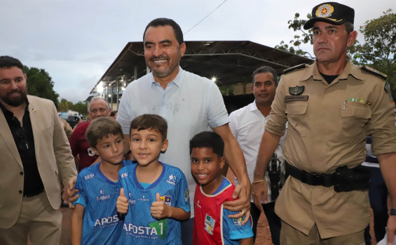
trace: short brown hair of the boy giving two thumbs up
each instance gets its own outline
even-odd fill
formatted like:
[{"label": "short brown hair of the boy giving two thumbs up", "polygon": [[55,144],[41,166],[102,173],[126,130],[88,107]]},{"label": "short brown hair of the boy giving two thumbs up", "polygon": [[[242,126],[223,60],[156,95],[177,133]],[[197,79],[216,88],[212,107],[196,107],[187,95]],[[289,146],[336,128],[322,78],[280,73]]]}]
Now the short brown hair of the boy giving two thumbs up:
[{"label": "short brown hair of the boy giving two thumbs up", "polygon": [[142,114],[136,117],[130,123],[129,133],[132,129],[137,129],[137,131],[152,129],[161,133],[163,141],[166,140],[168,135],[168,124],[165,119],[156,114]]}]

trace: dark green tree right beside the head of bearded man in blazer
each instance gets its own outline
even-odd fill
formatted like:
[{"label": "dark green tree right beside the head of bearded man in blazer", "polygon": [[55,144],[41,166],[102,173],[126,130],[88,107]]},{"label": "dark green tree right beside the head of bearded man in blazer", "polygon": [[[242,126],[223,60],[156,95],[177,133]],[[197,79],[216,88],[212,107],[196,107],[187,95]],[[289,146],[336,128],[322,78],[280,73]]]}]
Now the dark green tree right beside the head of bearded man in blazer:
[{"label": "dark green tree right beside the head of bearded man in blazer", "polygon": [[36,95],[41,98],[52,100],[57,107],[59,95],[53,90],[54,82],[45,69],[35,67],[24,67],[27,75],[27,91],[29,95]]}]

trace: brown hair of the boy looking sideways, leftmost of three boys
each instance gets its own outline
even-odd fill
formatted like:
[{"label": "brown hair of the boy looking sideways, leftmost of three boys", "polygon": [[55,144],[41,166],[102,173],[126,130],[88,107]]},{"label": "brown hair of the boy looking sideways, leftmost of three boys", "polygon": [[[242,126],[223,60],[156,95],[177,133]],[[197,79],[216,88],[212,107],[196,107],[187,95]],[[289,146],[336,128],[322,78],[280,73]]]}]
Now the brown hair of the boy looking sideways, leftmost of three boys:
[{"label": "brown hair of the boy looking sideways, leftmost of three boys", "polygon": [[90,122],[86,131],[86,139],[90,147],[96,148],[97,140],[111,134],[121,135],[124,138],[123,130],[118,121],[111,117],[98,117]]}]

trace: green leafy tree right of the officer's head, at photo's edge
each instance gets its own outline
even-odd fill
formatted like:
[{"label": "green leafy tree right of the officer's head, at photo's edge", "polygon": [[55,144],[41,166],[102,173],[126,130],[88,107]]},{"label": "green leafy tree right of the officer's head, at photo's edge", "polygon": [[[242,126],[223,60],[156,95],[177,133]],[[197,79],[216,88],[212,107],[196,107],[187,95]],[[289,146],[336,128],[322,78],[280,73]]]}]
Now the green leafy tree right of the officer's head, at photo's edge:
[{"label": "green leafy tree right of the officer's head, at photo's edge", "polygon": [[357,65],[369,65],[385,73],[396,98],[396,13],[388,9],[381,17],[367,20],[360,33],[364,44],[353,46],[353,60]]}]

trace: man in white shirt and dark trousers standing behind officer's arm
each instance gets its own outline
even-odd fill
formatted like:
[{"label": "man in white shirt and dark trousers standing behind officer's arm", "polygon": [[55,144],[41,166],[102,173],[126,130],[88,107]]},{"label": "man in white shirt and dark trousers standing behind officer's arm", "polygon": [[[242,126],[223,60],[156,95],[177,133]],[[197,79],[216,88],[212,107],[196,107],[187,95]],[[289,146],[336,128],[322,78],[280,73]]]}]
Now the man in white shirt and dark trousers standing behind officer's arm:
[{"label": "man in white shirt and dark trousers standing behind officer's arm", "polygon": [[[254,95],[254,102],[249,105],[236,110],[230,114],[230,123],[229,126],[231,131],[238,140],[241,150],[245,156],[247,175],[250,180],[253,180],[254,167],[256,166],[257,154],[259,152],[259,147],[261,143],[261,138],[264,134],[264,126],[266,121],[269,119],[269,113],[271,111],[271,104],[273,102],[273,98],[275,97],[275,91],[278,86],[278,77],[275,72],[275,69],[272,67],[264,66],[259,67],[253,72],[252,75],[252,91]],[[283,136],[280,140],[280,144],[278,145],[275,154],[277,157],[273,158],[273,164],[277,166],[277,168],[272,169],[272,173],[278,177],[279,180],[273,181],[273,184],[280,185],[280,174],[285,173],[285,168],[283,166],[283,142],[285,140],[285,136]],[[277,159],[278,158],[278,159]],[[282,164],[280,164],[282,163]],[[271,164],[268,164],[268,166]],[[280,236],[280,218],[275,214],[274,206],[275,199],[274,195],[271,195],[271,181],[268,176],[268,172],[266,172],[266,183],[268,186],[268,199],[263,200],[261,206],[257,207],[254,205],[253,199],[251,198],[252,205],[250,206],[250,214],[252,216],[253,222],[253,233],[254,239],[257,234],[257,222],[259,220],[260,214],[262,211],[266,214],[266,218],[268,220],[268,225],[271,230],[271,237],[274,245],[279,244],[279,236]],[[258,181],[252,183],[253,185],[262,185],[263,182]],[[277,196],[277,194],[275,194]]]}]

